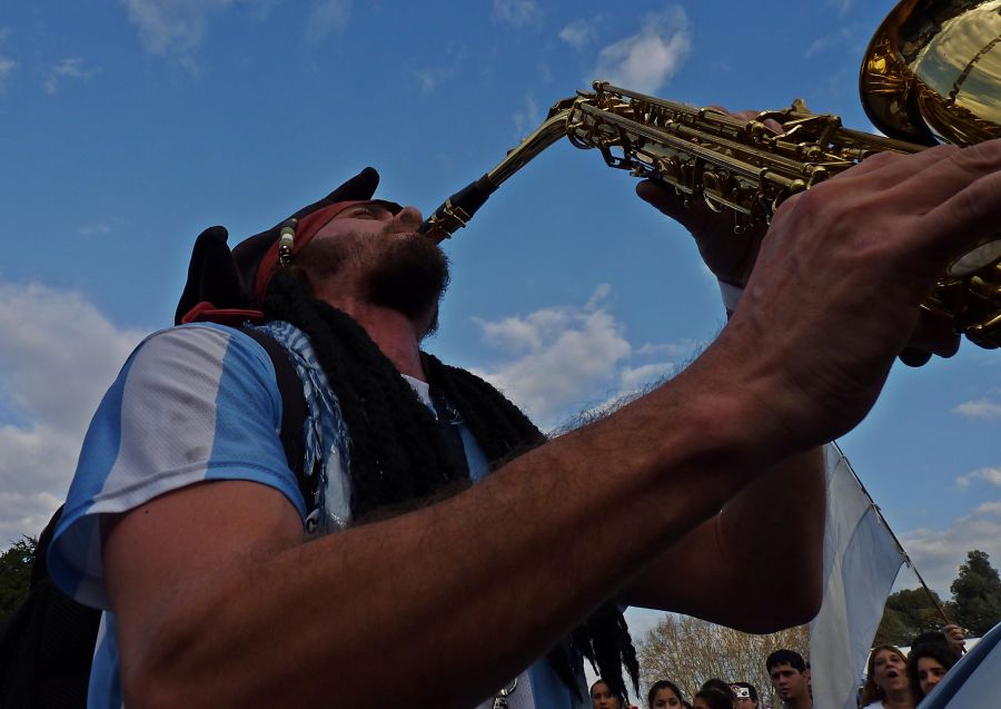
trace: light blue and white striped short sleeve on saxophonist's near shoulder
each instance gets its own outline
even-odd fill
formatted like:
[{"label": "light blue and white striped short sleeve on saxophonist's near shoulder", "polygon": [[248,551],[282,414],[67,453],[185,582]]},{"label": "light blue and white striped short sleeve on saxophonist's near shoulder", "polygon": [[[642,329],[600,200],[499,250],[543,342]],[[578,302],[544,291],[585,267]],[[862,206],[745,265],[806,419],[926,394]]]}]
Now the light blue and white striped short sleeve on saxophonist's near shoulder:
[{"label": "light blue and white striped short sleeve on saxophonist's near shoulder", "polygon": [[49,549],[52,579],[77,601],[107,608],[101,516],[205,481],[269,485],[304,516],[280,423],[274,365],[252,338],[216,325],[148,337],[88,429]]}]

